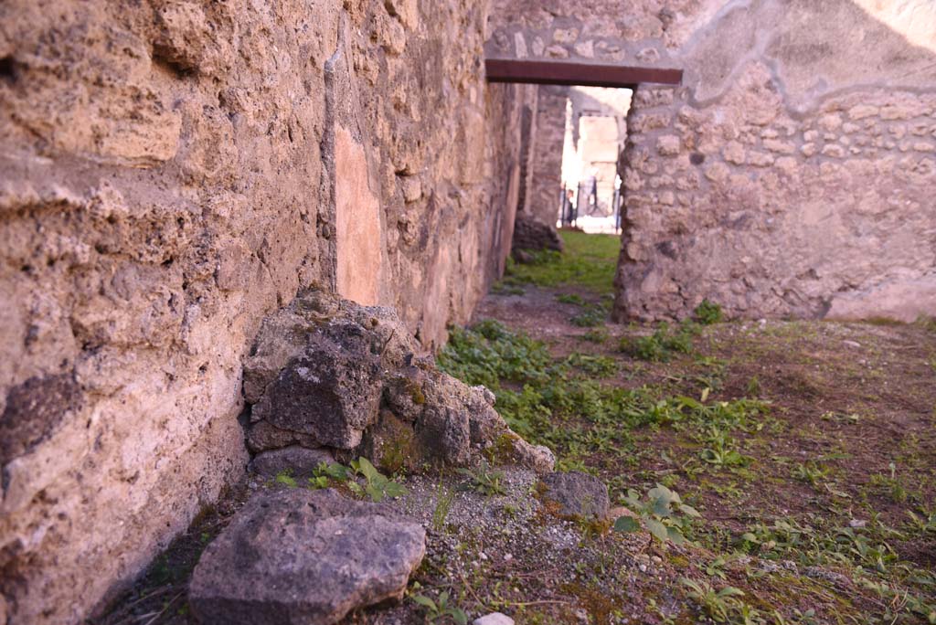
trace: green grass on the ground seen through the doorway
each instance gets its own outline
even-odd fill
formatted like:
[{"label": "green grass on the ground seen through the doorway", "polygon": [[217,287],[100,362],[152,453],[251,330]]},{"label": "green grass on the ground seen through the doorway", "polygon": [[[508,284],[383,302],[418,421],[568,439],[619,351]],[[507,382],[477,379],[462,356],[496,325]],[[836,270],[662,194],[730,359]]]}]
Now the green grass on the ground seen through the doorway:
[{"label": "green grass on the ground seen through the doorway", "polygon": [[533,260],[522,265],[507,259],[504,284],[519,286],[558,286],[575,284],[594,293],[613,293],[621,240],[613,235],[560,232],[565,252],[551,250],[532,253]]}]

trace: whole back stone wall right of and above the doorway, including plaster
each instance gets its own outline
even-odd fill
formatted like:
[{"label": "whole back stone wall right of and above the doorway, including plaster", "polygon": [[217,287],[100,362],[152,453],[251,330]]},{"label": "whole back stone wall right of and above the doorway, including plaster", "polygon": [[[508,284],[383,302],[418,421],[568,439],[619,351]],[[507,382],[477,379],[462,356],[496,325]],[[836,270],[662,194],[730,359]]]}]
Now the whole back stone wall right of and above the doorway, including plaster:
[{"label": "whole back stone wall right of and above the doorway, including plaster", "polygon": [[618,318],[936,312],[927,0],[495,0],[491,56],[685,70],[641,85]]}]

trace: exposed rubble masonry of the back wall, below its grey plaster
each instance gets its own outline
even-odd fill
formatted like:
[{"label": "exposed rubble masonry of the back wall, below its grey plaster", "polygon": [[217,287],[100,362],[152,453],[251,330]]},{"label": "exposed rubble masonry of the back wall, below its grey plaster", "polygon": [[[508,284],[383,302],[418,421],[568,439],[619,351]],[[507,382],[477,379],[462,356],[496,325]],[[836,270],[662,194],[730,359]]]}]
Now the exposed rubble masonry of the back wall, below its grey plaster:
[{"label": "exposed rubble masonry of the back wall, below its grey plaster", "polygon": [[619,314],[703,298],[747,317],[936,312],[936,97],[861,91],[797,119],[770,84],[753,67],[701,110],[638,90]]}]

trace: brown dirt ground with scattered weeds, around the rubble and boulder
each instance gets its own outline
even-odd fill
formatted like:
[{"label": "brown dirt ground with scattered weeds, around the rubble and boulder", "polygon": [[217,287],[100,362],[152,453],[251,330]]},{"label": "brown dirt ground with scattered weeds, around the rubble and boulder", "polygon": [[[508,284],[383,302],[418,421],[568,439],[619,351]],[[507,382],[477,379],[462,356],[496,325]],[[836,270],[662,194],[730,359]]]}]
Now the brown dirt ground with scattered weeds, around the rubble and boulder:
[{"label": "brown dirt ground with scattered weeds, around the rubble and boulder", "polygon": [[[578,262],[592,243],[573,242]],[[557,258],[512,269],[475,314],[501,351],[462,362],[494,340],[456,330],[450,347],[465,349],[440,362],[468,378],[501,371],[499,410],[561,470],[601,477],[612,505],[638,508],[630,489],[678,492],[697,517],[640,525],[663,520],[686,542],[558,518],[528,472],[491,469],[488,492],[457,472],[398,475],[397,505],[423,521],[429,553],[401,603],[345,622],[499,610],[543,624],[936,623],[936,327],[610,324],[613,246],[598,242],[603,255],[569,270]],[[200,548],[263,487],[282,486],[235,489],[94,622],[189,622]],[[446,614],[414,599],[443,592]]]}]

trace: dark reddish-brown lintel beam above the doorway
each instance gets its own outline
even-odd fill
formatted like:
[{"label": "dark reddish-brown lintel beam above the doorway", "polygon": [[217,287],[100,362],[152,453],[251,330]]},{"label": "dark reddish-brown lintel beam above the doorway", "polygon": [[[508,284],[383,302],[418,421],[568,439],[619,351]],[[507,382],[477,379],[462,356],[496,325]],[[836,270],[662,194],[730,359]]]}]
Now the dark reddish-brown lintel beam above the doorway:
[{"label": "dark reddish-brown lintel beam above the doorway", "polygon": [[489,82],[526,82],[567,84],[586,87],[624,87],[633,89],[641,82],[680,84],[681,69],[599,65],[574,61],[526,61],[486,59]]}]

